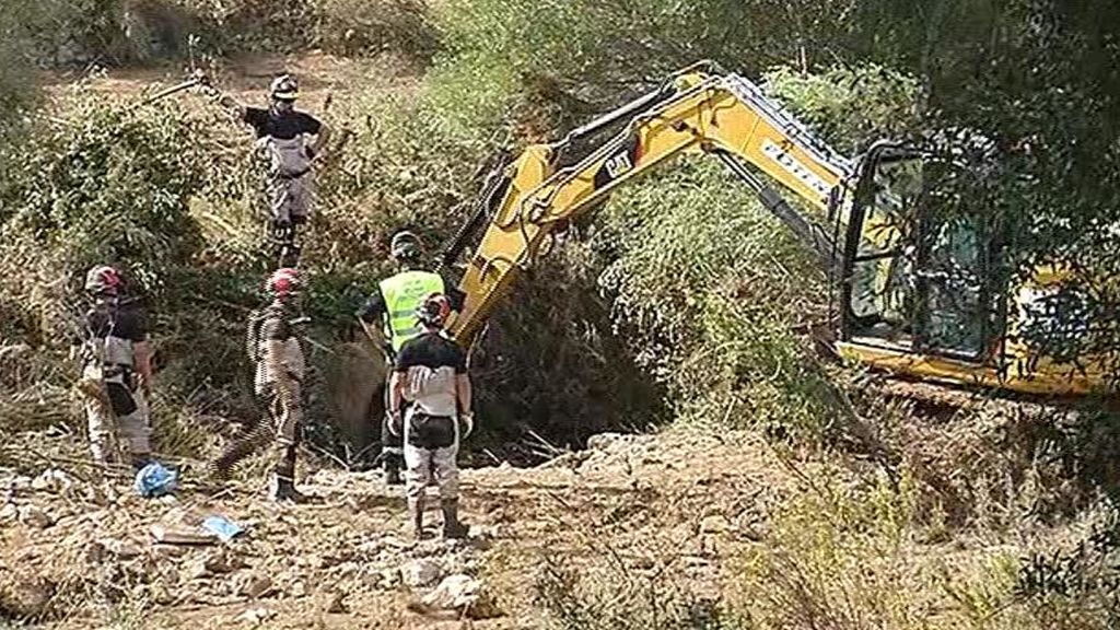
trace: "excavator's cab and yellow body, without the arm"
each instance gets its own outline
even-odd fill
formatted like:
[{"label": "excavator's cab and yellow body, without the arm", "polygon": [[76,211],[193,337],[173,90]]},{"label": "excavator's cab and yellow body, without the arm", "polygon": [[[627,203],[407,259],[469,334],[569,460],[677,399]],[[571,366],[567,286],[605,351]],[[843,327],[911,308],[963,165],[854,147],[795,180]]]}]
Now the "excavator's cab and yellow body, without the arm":
[{"label": "excavator's cab and yellow body, without the arm", "polygon": [[976,212],[939,191],[959,168],[887,142],[860,161],[850,206],[830,212],[844,217],[833,275],[838,350],[896,374],[956,385],[1045,395],[1107,390],[1100,358],[1062,356],[1047,348],[1054,335],[1028,339],[1047,321],[1038,315],[1040,300],[1068,295],[1067,275],[1040,270],[1029,285],[1014,284],[1008,228],[998,213]]}]

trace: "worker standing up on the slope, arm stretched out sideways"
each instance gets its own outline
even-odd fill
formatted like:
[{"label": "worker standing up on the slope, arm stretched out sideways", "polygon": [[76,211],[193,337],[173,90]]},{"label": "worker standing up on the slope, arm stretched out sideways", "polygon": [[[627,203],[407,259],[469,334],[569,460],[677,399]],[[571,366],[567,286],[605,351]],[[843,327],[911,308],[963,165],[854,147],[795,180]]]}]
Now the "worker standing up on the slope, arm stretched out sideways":
[{"label": "worker standing up on the slope, arm stretched out sideways", "polygon": [[[330,137],[330,129],[315,117],[296,111],[299,86],[283,75],[272,82],[269,109],[249,108],[228,94],[220,102],[237,112],[253,128],[258,147],[269,157],[269,200],[273,237],[281,242],[282,265],[295,263],[299,248],[297,226],[311,211],[311,167]],[[308,137],[315,140],[309,142]],[[284,253],[287,252],[287,253]]]}]

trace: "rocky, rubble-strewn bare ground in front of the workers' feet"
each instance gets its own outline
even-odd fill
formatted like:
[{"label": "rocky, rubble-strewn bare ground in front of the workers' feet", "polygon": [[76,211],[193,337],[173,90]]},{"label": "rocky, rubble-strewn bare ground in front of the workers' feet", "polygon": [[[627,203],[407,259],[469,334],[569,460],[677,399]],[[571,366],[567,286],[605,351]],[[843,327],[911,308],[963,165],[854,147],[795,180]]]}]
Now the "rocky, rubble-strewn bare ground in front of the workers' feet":
[{"label": "rocky, rubble-strewn bare ground in front of the workers' feet", "polygon": [[[40,436],[37,448],[52,441],[60,443],[56,452],[73,450],[72,436]],[[187,483],[174,497],[143,499],[123,478],[82,479],[87,469],[76,457],[43,458],[0,467],[0,488],[8,489],[0,620],[54,628],[536,628],[542,592],[572,569],[619,593],[655,580],[713,602],[725,563],[765,535],[767,504],[796,482],[787,470],[747,435],[604,435],[586,452],[534,469],[466,471],[469,538],[437,538],[433,506],[432,537],[416,544],[401,492],[374,473],[311,471],[301,488],[315,503],[274,506],[245,483]],[[153,526],[197,534],[212,515],[245,532],[190,544],[153,535]]]}]

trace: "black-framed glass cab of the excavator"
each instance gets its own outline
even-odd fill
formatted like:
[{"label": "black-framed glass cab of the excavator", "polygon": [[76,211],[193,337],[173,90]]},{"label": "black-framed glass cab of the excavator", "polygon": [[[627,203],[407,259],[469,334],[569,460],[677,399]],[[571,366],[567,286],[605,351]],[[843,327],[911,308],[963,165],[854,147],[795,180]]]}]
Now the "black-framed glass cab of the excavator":
[{"label": "black-framed glass cab of the excavator", "polygon": [[874,148],[857,184],[843,260],[843,336],[974,361],[993,330],[987,230],[934,207],[943,166],[912,149]]}]

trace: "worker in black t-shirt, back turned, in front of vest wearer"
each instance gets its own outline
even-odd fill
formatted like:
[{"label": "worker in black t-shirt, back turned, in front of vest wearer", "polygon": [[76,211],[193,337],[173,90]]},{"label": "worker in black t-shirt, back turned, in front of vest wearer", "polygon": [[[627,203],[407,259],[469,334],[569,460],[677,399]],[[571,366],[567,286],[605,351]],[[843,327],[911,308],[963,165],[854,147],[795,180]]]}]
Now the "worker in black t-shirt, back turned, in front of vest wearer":
[{"label": "worker in black t-shirt, back turned, in front of vest wearer", "polygon": [[[435,476],[444,513],[444,537],[461,538],[459,441],[474,429],[466,353],[442,334],[451,314],[447,297],[435,294],[417,309],[424,332],[404,342],[390,379],[391,428],[404,438],[404,494],[417,538],[423,532],[424,493]],[[412,402],[402,413],[404,401]],[[460,424],[463,425],[460,428]]]}]

